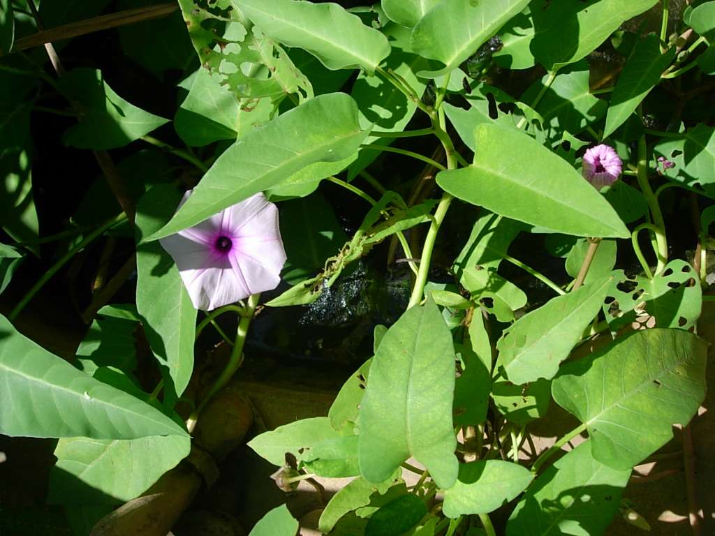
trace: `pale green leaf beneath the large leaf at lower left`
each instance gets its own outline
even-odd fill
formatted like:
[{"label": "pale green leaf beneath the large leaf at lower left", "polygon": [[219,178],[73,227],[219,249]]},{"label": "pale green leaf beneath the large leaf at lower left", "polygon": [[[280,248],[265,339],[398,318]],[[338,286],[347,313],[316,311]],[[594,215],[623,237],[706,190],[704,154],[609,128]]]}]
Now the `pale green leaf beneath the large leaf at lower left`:
[{"label": "pale green leaf beneath the large leaf at lower left", "polygon": [[70,437],[57,442],[47,501],[54,505],[112,505],[142,495],[189,455],[191,438],[136,440]]}]

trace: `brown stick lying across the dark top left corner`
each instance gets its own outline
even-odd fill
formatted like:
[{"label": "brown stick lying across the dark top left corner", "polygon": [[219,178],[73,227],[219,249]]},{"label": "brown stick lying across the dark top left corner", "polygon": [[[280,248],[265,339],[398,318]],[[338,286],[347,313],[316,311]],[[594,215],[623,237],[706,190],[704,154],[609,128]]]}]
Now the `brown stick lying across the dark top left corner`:
[{"label": "brown stick lying across the dark top left corner", "polygon": [[[29,3],[29,5],[31,6],[30,9],[33,9],[34,6],[31,3]],[[175,2],[170,4],[159,4],[158,6],[127,9],[126,11],[119,11],[118,13],[97,16],[93,19],[71,22],[49,30],[40,28],[42,31],[30,36],[21,37],[15,41],[12,51],[17,52],[25,49],[31,49],[41,44],[50,43],[51,41],[70,39],[71,37],[92,34],[95,31],[117,28],[117,26],[126,26],[127,24],[134,24],[136,22],[160,19],[164,16],[172,14],[177,9],[179,9],[179,5]],[[54,61],[52,63],[54,65]]]}]

